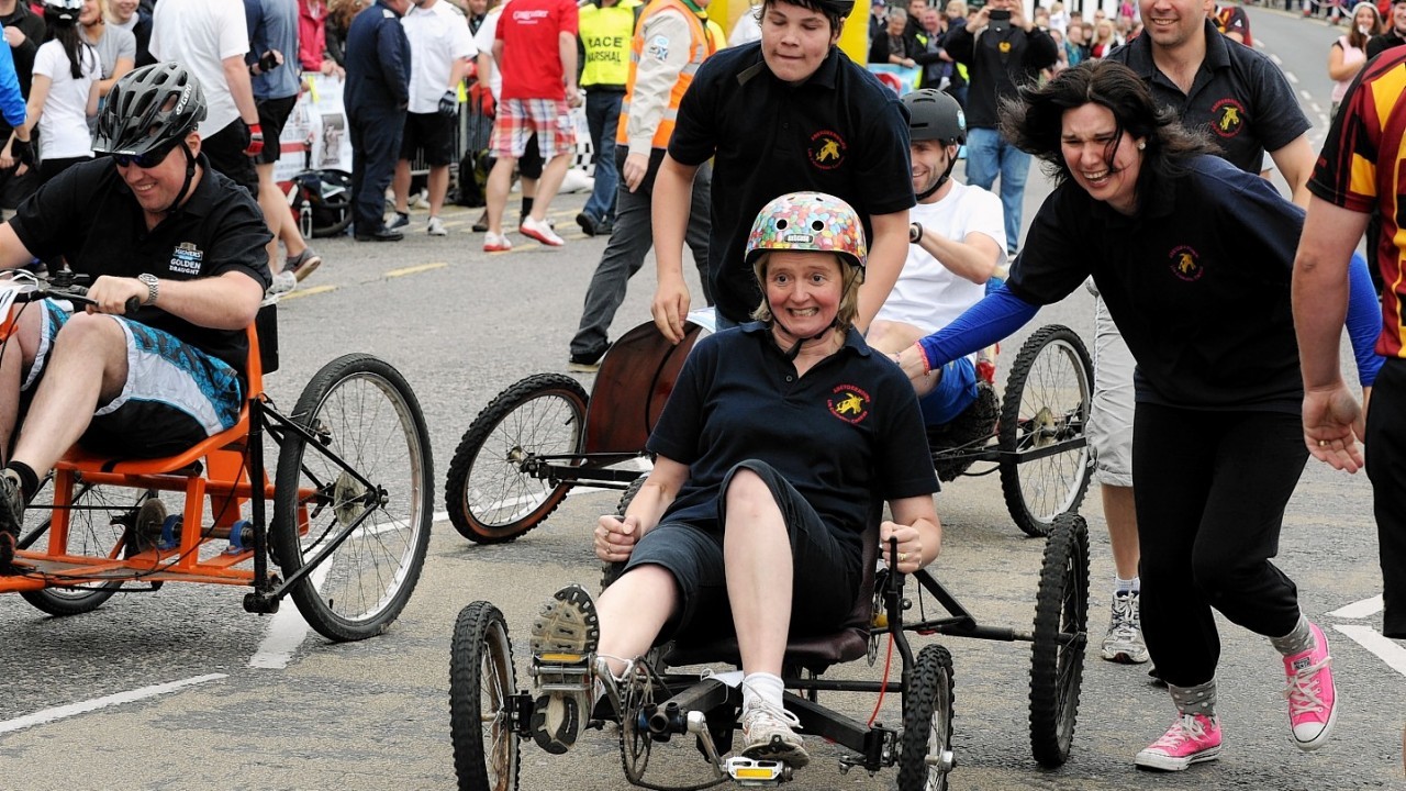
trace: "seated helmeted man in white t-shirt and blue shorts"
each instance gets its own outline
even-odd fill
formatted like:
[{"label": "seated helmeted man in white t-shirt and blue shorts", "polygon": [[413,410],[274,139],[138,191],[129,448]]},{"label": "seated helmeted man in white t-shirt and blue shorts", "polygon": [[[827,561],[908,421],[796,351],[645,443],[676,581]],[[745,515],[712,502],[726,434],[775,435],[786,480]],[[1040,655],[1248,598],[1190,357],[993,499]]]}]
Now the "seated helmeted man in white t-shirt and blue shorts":
[{"label": "seated helmeted man in white t-shirt and blue shorts", "polygon": [[[950,179],[966,139],[966,117],[949,94],[924,89],[903,97],[912,153],[908,259],[869,328],[869,345],[896,355],[936,332],[986,296],[1005,265],[1001,198]],[[952,422],[977,397],[976,360],[962,357],[912,380],[928,425]]]}]

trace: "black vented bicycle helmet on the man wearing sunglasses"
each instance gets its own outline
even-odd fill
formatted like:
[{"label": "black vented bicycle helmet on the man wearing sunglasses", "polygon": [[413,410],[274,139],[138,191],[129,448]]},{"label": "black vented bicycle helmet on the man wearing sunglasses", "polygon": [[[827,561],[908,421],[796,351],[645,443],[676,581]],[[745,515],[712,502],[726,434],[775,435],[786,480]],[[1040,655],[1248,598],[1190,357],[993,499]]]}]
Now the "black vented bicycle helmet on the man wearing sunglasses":
[{"label": "black vented bicycle helmet on the man wearing sunglasses", "polygon": [[124,75],[108,93],[97,118],[93,151],[146,153],[184,139],[204,120],[200,80],[180,63],[142,66]]}]

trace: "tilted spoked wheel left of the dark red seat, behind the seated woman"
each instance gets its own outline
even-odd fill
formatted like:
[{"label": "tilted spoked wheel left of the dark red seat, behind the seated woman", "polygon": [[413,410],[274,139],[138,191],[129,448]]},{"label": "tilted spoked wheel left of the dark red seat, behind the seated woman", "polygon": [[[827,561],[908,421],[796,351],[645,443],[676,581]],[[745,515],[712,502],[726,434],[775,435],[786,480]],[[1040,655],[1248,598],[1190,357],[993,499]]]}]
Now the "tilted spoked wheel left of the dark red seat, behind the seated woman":
[{"label": "tilted spoked wheel left of the dark red seat, behind the seated woman", "polygon": [[478,543],[499,543],[536,528],[572,484],[537,477],[529,464],[544,455],[579,453],[585,421],[586,391],[569,376],[540,373],[499,393],[449,464],[444,508],[454,529]]}]

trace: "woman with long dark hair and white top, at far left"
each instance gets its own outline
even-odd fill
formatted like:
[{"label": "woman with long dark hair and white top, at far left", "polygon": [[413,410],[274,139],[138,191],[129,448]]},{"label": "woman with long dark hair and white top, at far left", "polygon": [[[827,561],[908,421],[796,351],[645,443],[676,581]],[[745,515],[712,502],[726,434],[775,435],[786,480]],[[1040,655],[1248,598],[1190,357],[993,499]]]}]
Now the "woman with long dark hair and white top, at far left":
[{"label": "woman with long dark hair and white top, at far left", "polygon": [[[97,51],[79,32],[83,0],[45,0],[48,35],[34,56],[25,127],[39,128],[39,182],[93,159],[87,120],[97,114],[101,65]],[[11,137],[13,139],[13,137]],[[0,167],[13,162],[11,144],[0,152]]]}]

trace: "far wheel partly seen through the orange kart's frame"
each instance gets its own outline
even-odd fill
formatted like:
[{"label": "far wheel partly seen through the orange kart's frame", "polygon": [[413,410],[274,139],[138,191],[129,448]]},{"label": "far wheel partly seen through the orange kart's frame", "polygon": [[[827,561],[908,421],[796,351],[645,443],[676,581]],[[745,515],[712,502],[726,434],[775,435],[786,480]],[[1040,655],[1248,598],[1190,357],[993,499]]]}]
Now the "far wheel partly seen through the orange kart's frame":
[{"label": "far wheel partly seen through the orange kart's frame", "polygon": [[[25,517],[20,549],[49,552],[53,526],[52,481],[30,504]],[[117,557],[120,553],[131,556],[136,550],[132,536],[159,536],[165,518],[166,508],[152,491],[79,481],[73,486],[66,553],[84,557]],[[49,615],[82,615],[101,607],[121,587],[121,581],[84,583],[21,591],[20,595]]]}]

